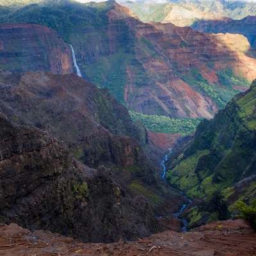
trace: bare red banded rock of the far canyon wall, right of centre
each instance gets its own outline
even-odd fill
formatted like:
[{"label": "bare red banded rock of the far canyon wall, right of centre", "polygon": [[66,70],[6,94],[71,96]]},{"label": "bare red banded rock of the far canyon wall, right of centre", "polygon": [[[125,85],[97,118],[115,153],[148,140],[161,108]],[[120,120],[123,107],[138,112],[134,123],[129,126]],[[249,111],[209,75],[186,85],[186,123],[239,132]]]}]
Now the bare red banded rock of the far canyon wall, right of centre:
[{"label": "bare red banded rock of the far canyon wall, right of centre", "polygon": [[[225,35],[198,33],[173,24],[145,24],[118,4],[108,12],[108,17],[110,52],[118,49],[116,38],[122,31],[118,21],[122,20],[129,28],[127,40],[134,43],[135,58],[148,79],[148,84],[140,86],[136,81],[138,70],[127,65],[124,100],[134,111],[148,115],[211,118],[218,111],[216,102],[196,88],[200,80],[189,83],[189,78],[184,79],[191,76],[191,70],[196,70],[212,88],[217,86],[219,90],[223,89],[217,74],[225,72],[225,68],[236,67],[234,73],[248,81],[256,77],[255,59],[246,56],[246,49],[241,51],[236,45],[236,42],[246,45],[243,36],[234,35],[230,45]],[[228,90],[232,90],[232,86]]]}]

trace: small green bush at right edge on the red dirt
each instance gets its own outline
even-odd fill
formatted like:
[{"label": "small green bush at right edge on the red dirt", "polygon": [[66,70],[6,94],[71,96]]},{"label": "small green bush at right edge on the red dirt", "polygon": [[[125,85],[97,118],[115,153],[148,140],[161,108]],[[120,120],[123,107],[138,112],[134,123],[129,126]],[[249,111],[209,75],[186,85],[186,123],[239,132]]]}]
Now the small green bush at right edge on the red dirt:
[{"label": "small green bush at right edge on the red dirt", "polygon": [[252,200],[250,205],[238,202],[236,207],[241,212],[240,217],[256,231],[256,198]]}]

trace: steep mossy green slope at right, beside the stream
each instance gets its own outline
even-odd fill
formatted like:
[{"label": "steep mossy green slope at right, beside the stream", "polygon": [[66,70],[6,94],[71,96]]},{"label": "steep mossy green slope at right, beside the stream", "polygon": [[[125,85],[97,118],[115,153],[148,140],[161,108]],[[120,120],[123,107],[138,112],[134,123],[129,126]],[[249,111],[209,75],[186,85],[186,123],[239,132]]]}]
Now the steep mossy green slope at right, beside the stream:
[{"label": "steep mossy green slope at right, beside the stream", "polygon": [[[182,145],[181,145],[182,147]],[[211,120],[203,120],[191,144],[168,159],[166,180],[195,200],[190,225],[236,214],[236,202],[256,196],[256,80]]]}]

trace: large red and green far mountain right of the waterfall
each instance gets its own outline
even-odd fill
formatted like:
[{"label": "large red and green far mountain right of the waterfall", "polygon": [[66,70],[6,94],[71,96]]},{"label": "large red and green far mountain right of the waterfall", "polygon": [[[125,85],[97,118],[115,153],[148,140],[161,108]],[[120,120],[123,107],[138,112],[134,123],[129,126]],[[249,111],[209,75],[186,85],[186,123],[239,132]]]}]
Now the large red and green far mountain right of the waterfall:
[{"label": "large red and green far mountain right of the waterfall", "polygon": [[[4,21],[35,22],[56,29],[73,45],[83,77],[109,88],[119,102],[138,113],[211,118],[256,76],[254,59],[246,57],[246,50],[237,56],[236,47],[228,48],[220,36],[170,24],[143,24],[113,1],[84,5],[65,1],[58,10],[51,8],[27,6],[22,17],[16,11]],[[71,10],[77,13],[76,26]],[[49,23],[47,13],[56,22]],[[60,22],[64,15],[67,24]],[[173,31],[171,38],[168,31]],[[236,41],[248,44],[245,38],[232,40]],[[207,46],[196,48],[195,42]]]}]

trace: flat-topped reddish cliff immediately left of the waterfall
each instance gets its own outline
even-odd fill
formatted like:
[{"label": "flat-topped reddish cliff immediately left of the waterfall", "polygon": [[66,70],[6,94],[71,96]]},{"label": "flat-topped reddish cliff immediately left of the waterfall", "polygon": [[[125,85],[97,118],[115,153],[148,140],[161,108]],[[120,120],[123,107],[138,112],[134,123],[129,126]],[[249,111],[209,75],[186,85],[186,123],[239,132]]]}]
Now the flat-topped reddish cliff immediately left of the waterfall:
[{"label": "flat-topped reddish cliff immediately left of the waterfall", "polygon": [[1,68],[53,74],[73,72],[70,47],[52,29],[36,24],[0,24],[0,38]]}]

